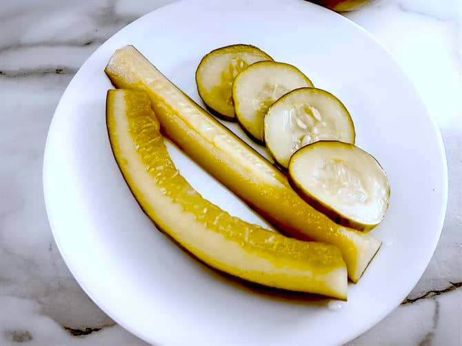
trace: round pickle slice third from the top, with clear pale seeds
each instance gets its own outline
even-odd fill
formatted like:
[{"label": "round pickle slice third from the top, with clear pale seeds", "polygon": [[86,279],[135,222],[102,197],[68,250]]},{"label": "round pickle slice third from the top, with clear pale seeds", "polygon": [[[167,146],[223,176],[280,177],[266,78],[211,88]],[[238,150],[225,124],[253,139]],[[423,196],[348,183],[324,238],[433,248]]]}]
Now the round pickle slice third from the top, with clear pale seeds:
[{"label": "round pickle slice third from the top, with clear pale seeds", "polygon": [[317,88],[293,90],[277,100],[265,115],[265,144],[284,168],[290,156],[317,141],[354,144],[354,125],[343,103]]}]

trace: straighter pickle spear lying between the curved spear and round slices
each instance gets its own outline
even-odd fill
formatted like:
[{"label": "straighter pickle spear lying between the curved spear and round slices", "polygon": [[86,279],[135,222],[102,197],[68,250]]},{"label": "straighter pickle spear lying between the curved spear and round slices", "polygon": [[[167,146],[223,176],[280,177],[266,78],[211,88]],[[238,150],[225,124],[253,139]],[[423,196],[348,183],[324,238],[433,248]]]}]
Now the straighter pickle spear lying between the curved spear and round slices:
[{"label": "straighter pickle spear lying between the curved spear and round slices", "polygon": [[163,131],[218,181],[285,234],[337,245],[356,282],[381,242],[331,221],[305,203],[276,167],[170,82],[132,45],[105,69],[117,88],[145,90]]}]

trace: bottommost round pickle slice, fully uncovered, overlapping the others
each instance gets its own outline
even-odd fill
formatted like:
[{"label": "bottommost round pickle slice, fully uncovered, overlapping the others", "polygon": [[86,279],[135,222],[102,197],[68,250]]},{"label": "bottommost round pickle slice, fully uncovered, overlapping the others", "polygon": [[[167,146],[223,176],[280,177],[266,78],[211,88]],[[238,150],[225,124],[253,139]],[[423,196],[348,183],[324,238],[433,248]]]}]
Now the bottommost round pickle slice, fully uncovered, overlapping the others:
[{"label": "bottommost round pickle slice, fully uncovered, overlapping the others", "polygon": [[292,186],[337,223],[367,231],[381,223],[390,185],[379,162],[352,144],[320,141],[296,152],[289,163]]}]

